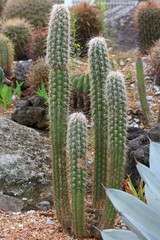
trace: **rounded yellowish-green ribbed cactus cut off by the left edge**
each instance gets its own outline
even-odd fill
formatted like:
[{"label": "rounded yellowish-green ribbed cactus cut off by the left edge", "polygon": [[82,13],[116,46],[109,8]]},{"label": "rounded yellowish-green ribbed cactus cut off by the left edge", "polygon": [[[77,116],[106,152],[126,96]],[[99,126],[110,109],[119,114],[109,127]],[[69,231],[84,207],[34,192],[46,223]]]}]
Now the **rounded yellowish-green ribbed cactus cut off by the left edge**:
[{"label": "rounded yellowish-green ribbed cactus cut off by the left edge", "polygon": [[0,67],[7,75],[11,73],[14,60],[14,47],[8,37],[0,34]]}]

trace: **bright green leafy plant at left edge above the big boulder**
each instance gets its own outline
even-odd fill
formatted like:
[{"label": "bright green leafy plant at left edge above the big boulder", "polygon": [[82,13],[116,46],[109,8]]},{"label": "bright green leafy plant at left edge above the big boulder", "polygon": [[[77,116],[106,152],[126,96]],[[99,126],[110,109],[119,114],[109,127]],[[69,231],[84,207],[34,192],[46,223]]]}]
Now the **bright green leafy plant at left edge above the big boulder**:
[{"label": "bright green leafy plant at left edge above the big boulder", "polygon": [[2,104],[4,108],[7,108],[7,106],[11,104],[12,95],[12,88],[5,84],[0,87],[0,104]]}]

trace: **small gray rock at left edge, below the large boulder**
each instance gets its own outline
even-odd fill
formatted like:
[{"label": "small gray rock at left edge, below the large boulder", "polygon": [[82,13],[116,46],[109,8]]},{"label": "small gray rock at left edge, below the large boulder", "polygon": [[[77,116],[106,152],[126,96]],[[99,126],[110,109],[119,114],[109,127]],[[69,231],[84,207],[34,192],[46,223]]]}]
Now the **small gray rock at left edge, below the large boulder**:
[{"label": "small gray rock at left edge, below the large boulder", "polygon": [[0,193],[0,210],[19,212],[23,209],[23,201]]}]

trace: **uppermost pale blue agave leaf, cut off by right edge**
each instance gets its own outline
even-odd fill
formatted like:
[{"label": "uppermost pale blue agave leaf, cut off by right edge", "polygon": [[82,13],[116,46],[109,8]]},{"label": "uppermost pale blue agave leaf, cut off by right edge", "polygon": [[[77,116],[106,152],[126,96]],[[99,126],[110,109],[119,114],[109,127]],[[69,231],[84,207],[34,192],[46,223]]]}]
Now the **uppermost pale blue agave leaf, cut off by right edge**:
[{"label": "uppermost pale blue agave leaf, cut off by right edge", "polygon": [[150,143],[150,169],[159,177],[160,175],[160,144],[156,142]]}]

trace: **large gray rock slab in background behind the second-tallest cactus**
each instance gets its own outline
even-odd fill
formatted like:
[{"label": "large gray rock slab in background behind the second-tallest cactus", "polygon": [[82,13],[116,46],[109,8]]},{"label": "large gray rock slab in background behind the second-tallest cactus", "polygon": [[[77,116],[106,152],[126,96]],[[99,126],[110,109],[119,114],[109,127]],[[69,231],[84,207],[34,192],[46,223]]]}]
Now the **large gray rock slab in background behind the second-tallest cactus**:
[{"label": "large gray rock slab in background behind the second-tallest cactus", "polygon": [[137,52],[138,39],[133,24],[135,6],[116,6],[105,13],[107,35],[113,39],[114,50]]}]

